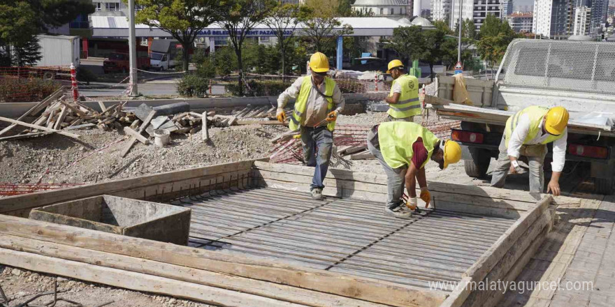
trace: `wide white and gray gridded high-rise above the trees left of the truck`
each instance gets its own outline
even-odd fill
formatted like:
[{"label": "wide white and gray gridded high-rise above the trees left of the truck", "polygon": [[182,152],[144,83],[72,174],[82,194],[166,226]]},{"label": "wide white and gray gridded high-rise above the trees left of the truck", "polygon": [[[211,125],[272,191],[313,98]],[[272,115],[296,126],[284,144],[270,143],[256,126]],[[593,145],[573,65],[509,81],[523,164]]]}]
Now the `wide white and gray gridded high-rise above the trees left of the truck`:
[{"label": "wide white and gray gridded high-rise above the trees left of the truck", "polygon": [[461,1],[461,19],[474,21],[479,30],[487,15],[500,18],[500,0],[453,0],[451,3],[451,29],[455,29],[459,20],[459,1]]}]

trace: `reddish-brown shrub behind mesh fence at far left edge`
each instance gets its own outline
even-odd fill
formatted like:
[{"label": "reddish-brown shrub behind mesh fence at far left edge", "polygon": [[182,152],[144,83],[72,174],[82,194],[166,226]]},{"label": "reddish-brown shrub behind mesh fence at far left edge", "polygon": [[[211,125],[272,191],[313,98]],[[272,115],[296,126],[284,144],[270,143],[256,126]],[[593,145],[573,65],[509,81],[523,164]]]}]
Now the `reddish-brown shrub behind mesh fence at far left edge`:
[{"label": "reddish-brown shrub behind mesh fence at far left edge", "polygon": [[59,88],[53,80],[0,79],[0,103],[41,101]]}]

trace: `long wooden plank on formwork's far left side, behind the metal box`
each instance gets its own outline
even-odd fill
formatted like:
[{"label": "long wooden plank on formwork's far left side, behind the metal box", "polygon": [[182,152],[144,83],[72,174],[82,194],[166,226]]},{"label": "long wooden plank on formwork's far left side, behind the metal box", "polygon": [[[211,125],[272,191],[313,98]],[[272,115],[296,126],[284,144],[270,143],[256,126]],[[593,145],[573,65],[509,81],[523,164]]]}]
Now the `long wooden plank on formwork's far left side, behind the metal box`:
[{"label": "long wooden plank on formwork's far left side, behind the metal box", "polygon": [[[142,197],[144,188],[148,186],[157,188],[157,186],[161,184],[172,184],[182,180],[207,177],[212,174],[223,174],[226,172],[234,172],[236,170],[249,170],[252,163],[254,163],[254,160],[245,160],[206,167],[195,167],[188,170],[150,174],[131,179],[120,179],[102,184],[87,184],[85,186],[77,186],[74,188],[49,190],[26,195],[4,197],[0,199],[0,213],[41,207],[48,204],[54,204],[56,202],[66,202],[68,200],[103,194],[122,196],[122,193],[134,193]],[[179,188],[176,188],[176,190],[178,189]],[[169,190],[171,190],[171,188],[169,188]]]}]

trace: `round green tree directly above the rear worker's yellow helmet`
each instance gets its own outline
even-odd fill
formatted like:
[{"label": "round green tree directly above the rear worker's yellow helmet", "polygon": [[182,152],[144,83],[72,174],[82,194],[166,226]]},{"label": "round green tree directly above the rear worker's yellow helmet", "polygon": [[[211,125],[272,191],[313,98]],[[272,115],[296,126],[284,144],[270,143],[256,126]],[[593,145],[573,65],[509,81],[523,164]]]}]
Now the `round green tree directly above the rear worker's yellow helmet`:
[{"label": "round green tree directly above the rear worker's yellow helmet", "polygon": [[424,38],[421,26],[398,27],[393,29],[393,37],[386,40],[388,48],[395,50],[403,63],[421,56]]}]

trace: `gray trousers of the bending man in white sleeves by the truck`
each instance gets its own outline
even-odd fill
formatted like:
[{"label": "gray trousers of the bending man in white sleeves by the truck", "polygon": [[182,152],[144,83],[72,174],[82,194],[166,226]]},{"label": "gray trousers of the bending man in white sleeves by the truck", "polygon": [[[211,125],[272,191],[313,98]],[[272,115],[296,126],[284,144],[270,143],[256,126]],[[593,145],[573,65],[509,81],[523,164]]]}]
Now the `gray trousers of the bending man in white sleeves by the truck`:
[{"label": "gray trousers of the bending man in white sleeves by the truck", "polygon": [[[519,156],[526,156],[528,158],[528,165],[530,167],[530,192],[543,193],[544,170],[542,170],[542,167],[544,165],[544,157],[547,156],[547,145],[523,145],[519,151]],[[506,148],[504,136],[502,136],[500,154],[491,177],[491,186],[504,188],[509,170],[510,159],[508,158],[508,149]]]}]

